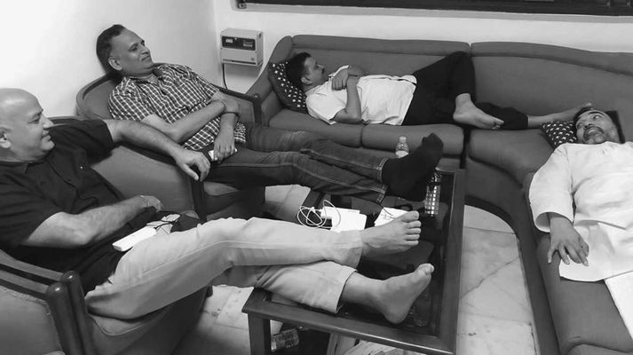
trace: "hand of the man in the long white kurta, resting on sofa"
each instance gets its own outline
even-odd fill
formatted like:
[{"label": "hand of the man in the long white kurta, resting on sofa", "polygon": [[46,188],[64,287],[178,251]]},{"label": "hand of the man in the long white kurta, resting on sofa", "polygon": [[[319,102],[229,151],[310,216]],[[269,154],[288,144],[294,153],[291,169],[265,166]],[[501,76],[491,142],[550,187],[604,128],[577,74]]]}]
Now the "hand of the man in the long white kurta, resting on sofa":
[{"label": "hand of the man in the long white kurta, resting on sofa", "polygon": [[549,213],[550,216],[550,249],[547,251],[547,262],[551,263],[551,257],[558,251],[560,258],[565,264],[569,264],[569,257],[574,263],[587,266],[587,256],[589,256],[589,245],[576,232],[574,225],[561,215]]}]

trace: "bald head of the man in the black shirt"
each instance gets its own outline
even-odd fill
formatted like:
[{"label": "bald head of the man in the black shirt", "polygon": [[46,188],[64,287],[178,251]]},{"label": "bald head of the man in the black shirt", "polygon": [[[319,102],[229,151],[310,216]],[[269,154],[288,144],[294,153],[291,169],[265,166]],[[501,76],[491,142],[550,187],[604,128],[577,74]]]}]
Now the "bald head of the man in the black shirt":
[{"label": "bald head of the man in the black shirt", "polygon": [[42,159],[55,146],[48,134],[51,127],[33,94],[0,88],[0,161]]}]

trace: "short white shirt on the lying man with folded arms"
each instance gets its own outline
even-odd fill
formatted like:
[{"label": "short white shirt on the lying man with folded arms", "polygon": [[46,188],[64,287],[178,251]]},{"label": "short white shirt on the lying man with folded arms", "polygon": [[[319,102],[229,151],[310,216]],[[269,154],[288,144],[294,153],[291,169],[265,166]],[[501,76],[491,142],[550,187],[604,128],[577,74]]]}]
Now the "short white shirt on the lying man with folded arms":
[{"label": "short white shirt on the lying man with folded arms", "polygon": [[[305,93],[308,114],[329,124],[336,113],[347,104],[346,90],[333,90],[332,77],[349,66],[339,67],[329,75],[326,83]],[[386,123],[400,125],[415,91],[415,76],[365,75],[356,88],[359,91],[360,111],[363,123]]]}]

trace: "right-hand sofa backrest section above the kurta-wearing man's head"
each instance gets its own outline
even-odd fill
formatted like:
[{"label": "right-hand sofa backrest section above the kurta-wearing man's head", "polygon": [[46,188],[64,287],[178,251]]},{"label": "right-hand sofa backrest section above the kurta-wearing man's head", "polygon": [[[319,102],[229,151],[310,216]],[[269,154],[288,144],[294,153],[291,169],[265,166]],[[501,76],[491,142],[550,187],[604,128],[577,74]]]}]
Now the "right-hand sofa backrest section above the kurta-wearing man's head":
[{"label": "right-hand sofa backrest section above the kurta-wearing man's head", "polygon": [[473,43],[477,99],[548,114],[591,102],[620,114],[633,139],[633,53],[582,51],[536,43]]}]

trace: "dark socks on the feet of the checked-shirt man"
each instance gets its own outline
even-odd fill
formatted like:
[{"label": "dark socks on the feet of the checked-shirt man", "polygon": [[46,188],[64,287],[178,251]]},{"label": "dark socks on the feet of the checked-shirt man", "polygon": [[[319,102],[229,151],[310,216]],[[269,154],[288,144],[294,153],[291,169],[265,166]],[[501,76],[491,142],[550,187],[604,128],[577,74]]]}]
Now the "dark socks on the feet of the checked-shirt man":
[{"label": "dark socks on the feet of the checked-shirt man", "polygon": [[426,185],[431,178],[444,144],[434,133],[422,139],[422,144],[403,158],[393,158],[384,162],[383,182],[387,194],[404,197],[411,201],[422,201],[426,195]]}]

